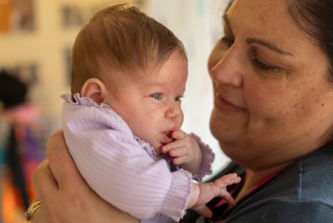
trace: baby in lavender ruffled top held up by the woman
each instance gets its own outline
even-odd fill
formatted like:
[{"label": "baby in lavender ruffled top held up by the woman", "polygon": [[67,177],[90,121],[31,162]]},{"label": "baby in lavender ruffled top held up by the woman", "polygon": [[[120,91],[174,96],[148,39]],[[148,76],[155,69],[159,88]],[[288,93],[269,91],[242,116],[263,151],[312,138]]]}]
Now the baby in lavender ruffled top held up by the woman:
[{"label": "baby in lavender ruffled top held up by the woman", "polygon": [[214,154],[180,130],[187,56],[173,33],[136,7],[99,10],[73,46],[71,96],[62,96],[69,152],[89,186],[107,202],[147,222],[179,221],[187,208],[211,217],[214,197],[230,205],[226,175],[210,174]]}]

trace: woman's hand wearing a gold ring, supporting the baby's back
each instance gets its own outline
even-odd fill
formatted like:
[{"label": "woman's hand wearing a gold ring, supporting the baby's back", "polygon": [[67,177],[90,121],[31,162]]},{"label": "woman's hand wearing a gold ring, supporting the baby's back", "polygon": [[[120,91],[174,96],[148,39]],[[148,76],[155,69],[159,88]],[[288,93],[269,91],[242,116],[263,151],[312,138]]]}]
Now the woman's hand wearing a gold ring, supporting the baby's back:
[{"label": "woman's hand wearing a gold ring, supporting the baby's back", "polygon": [[33,174],[33,187],[42,203],[33,223],[139,222],[89,188],[71,159],[61,130],[48,141],[48,157]]}]

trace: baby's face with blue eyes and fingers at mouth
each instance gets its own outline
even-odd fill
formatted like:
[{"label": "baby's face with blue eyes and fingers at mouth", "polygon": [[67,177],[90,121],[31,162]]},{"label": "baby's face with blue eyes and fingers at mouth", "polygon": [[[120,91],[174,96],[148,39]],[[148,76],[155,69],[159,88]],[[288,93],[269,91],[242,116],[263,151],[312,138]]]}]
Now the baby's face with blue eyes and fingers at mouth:
[{"label": "baby's face with blue eyes and fingers at mouth", "polygon": [[173,140],[171,132],[184,121],[180,105],[187,73],[185,58],[175,52],[162,66],[138,71],[136,80],[119,74],[117,92],[105,103],[160,154],[162,145]]}]

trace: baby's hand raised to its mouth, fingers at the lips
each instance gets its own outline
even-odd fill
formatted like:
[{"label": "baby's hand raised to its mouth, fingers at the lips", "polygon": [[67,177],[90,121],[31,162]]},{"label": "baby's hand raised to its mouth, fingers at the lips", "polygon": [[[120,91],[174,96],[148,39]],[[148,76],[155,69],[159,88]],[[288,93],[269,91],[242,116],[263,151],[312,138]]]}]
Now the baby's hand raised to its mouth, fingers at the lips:
[{"label": "baby's hand raised to its mouth, fingers at the lips", "polygon": [[196,173],[201,164],[202,154],[198,142],[182,130],[173,131],[171,137],[175,139],[162,147],[163,153],[170,154],[173,163],[185,170]]}]

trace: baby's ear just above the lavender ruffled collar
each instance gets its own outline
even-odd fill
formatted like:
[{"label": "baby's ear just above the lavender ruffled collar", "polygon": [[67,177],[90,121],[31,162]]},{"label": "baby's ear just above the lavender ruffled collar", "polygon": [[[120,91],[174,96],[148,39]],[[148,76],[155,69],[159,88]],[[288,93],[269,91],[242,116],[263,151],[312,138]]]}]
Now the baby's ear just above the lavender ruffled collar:
[{"label": "baby's ear just above the lavender ruffled collar", "polygon": [[83,84],[80,95],[92,98],[94,102],[101,104],[105,91],[105,84],[99,78],[90,78]]}]

